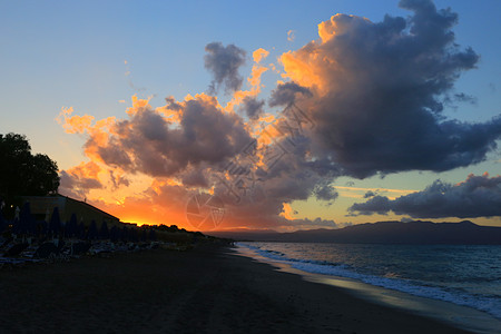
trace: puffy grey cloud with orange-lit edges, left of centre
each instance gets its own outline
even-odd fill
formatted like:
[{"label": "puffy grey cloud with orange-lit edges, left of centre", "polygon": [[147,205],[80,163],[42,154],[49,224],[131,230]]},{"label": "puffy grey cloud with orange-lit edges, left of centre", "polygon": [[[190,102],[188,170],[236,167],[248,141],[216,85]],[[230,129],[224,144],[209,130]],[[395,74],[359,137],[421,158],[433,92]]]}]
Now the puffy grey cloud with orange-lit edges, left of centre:
[{"label": "puffy grey cloud with orange-lit edges, left of centre", "polygon": [[[91,136],[87,149],[109,166],[153,177],[179,176],[199,164],[216,166],[239,153],[252,140],[237,115],[218,109],[212,98],[178,104],[179,124],[171,124],[151,108],[140,108],[129,120],[117,121],[106,144]],[[189,170],[188,170],[189,171]],[[193,174],[193,171],[189,171]],[[185,176],[193,185],[193,175]],[[202,183],[200,177],[196,183]]]}]

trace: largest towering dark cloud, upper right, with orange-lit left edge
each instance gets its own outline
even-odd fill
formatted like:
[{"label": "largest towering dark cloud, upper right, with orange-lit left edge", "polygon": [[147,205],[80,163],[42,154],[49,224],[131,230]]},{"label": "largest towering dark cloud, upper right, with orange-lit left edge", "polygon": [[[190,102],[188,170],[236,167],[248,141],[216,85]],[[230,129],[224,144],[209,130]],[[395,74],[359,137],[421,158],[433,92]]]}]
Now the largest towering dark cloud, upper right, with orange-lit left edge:
[{"label": "largest towering dark cloud, upper right, with orange-lit left edge", "polygon": [[[479,60],[454,41],[456,14],[425,0],[401,7],[413,16],[333,16],[318,24],[318,40],[281,57],[289,84],[313,95],[302,105],[317,125],[312,153],[348,176],[478,164],[501,137],[501,117],[471,124],[442,115],[455,80]],[[292,99],[282,90],[271,105]]]}]

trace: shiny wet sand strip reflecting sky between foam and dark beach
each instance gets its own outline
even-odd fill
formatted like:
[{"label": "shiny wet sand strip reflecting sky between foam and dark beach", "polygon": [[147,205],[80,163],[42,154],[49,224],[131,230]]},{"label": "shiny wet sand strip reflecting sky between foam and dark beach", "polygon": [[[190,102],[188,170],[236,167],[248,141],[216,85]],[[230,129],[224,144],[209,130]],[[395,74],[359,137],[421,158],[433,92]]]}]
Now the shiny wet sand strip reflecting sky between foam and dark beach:
[{"label": "shiny wet sand strip reflecting sky between foam and dark beach", "polygon": [[292,267],[291,264],[264,257],[245,246],[237,246],[243,256],[269,264],[279,272],[296,274],[307,282],[336,286],[357,298],[370,303],[404,310],[412,314],[433,318],[451,326],[474,333],[501,333],[501,321],[494,316],[469,306],[458,305],[441,299],[415,296],[405,292],[390,289],[363,283],[353,278],[310,273]]}]

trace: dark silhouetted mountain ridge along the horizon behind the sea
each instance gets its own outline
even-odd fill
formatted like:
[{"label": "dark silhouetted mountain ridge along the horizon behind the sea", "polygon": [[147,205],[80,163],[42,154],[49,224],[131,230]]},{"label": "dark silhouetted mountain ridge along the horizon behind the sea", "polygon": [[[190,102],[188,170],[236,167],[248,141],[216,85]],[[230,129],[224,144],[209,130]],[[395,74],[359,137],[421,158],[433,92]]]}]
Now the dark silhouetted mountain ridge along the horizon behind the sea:
[{"label": "dark silhouetted mountain ridge along the horizon behind the sea", "polygon": [[461,223],[380,222],[352,225],[340,229],[311,229],[293,233],[275,230],[228,230],[206,234],[256,242],[302,242],[340,244],[452,244],[501,245],[501,227]]}]

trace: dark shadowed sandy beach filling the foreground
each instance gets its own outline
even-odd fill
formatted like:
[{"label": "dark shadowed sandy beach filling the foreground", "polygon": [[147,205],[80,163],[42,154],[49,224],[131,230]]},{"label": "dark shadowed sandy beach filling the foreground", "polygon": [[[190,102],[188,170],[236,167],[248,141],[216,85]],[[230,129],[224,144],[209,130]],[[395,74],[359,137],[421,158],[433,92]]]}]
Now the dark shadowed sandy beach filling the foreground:
[{"label": "dark shadowed sandy beach filling the foreground", "polygon": [[2,333],[469,333],[200,246],[0,271]]}]

